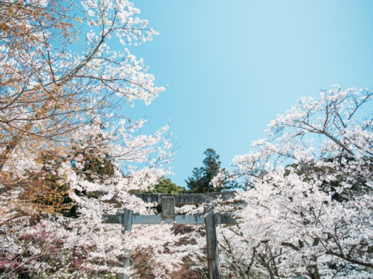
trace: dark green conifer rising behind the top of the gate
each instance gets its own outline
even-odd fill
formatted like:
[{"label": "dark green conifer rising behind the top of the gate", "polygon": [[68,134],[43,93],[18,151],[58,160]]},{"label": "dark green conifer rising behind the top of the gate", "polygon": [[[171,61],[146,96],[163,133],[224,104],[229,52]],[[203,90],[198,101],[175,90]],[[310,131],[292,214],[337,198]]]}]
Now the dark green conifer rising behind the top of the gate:
[{"label": "dark green conifer rising behind the top of the gate", "polygon": [[[193,176],[185,180],[188,192],[190,193],[209,193],[222,192],[233,187],[237,187],[237,183],[224,181],[221,187],[213,187],[210,182],[220,171],[219,155],[212,148],[208,148],[203,154],[206,158],[203,160],[203,167],[194,168]],[[224,169],[223,169],[224,171]]]}]

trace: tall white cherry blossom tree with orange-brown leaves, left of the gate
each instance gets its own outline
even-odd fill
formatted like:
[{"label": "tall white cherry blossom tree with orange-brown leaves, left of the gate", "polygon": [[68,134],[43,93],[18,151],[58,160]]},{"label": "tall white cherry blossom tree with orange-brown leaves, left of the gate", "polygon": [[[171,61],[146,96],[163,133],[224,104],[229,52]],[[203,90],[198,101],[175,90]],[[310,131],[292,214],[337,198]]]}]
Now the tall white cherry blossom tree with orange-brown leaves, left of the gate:
[{"label": "tall white cherry blossom tree with orange-brown leaves, left of the gate", "polygon": [[[141,135],[126,106],[164,90],[129,52],[156,35],[123,0],[0,1],[0,278],[80,278],[126,271],[118,256],[149,248],[158,275],[181,256],[168,226],[102,224],[131,190],[169,173],[168,126]],[[121,45],[111,49],[112,45]],[[100,193],[100,194],[97,194]],[[120,206],[104,204],[117,196]]]}]

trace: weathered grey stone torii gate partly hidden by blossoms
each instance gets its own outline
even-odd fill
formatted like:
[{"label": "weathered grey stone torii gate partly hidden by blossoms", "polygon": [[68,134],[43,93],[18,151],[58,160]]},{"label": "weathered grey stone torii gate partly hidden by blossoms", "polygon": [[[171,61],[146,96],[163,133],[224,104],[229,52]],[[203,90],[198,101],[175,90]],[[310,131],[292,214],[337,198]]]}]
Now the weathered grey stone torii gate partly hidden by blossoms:
[{"label": "weathered grey stone torii gate partly hidden by blossoms", "polygon": [[[235,192],[205,193],[205,194],[133,194],[144,202],[162,205],[161,215],[140,215],[130,209],[117,214],[104,215],[103,222],[107,224],[121,224],[121,233],[131,231],[132,224],[205,224],[207,242],[207,263],[210,279],[221,279],[219,252],[217,248],[216,224],[231,224],[235,221],[225,214],[215,214],[211,202],[215,199],[227,201],[234,197]],[[105,202],[117,203],[115,197]],[[175,215],[175,204],[205,204],[204,215]],[[119,258],[124,267],[129,267],[130,251],[127,250]],[[117,273],[117,279],[128,279],[128,275]]]}]

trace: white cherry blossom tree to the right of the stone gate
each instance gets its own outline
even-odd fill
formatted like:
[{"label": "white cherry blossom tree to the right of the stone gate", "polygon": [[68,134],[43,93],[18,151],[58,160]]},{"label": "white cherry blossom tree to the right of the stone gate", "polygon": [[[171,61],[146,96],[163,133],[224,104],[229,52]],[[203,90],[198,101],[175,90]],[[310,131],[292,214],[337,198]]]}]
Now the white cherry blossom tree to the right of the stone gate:
[{"label": "white cherry blossom tree to the right of the stone gate", "polygon": [[243,277],[373,273],[371,89],[334,86],[271,121],[228,175],[247,185],[220,230],[222,264]]}]

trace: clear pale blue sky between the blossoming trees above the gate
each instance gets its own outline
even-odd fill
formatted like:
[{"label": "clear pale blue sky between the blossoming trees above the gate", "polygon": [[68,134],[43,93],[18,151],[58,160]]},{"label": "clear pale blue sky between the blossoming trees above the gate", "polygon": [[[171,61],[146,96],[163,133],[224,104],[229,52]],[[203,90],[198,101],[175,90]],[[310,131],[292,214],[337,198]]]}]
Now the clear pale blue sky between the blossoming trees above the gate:
[{"label": "clear pale blue sky between the blossoming trees above the gate", "polygon": [[[171,122],[173,182],[185,186],[203,152],[228,167],[298,98],[333,84],[372,87],[373,1],[135,0],[160,35],[131,48],[166,86],[127,111],[151,133]],[[372,108],[373,109],[373,108]]]}]

